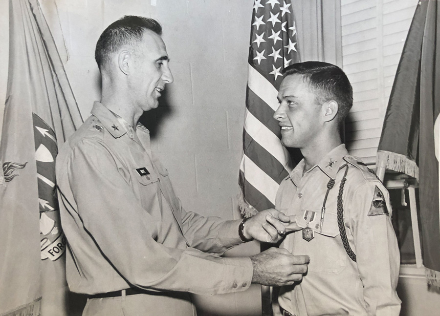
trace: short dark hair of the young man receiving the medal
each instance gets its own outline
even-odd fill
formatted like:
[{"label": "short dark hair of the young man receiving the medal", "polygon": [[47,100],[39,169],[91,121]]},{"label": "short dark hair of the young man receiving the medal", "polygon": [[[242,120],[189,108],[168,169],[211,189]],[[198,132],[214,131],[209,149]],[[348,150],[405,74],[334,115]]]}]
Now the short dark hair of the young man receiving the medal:
[{"label": "short dark hair of the young man receiving the medal", "polygon": [[334,100],[338,103],[338,125],[347,117],[353,105],[353,89],[347,75],[331,63],[294,63],[283,70],[284,77],[302,75],[309,87],[316,93],[316,101],[324,103]]}]

